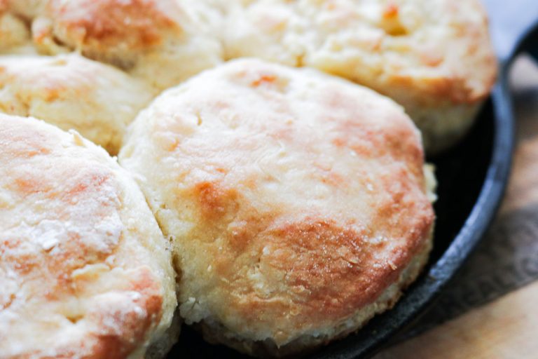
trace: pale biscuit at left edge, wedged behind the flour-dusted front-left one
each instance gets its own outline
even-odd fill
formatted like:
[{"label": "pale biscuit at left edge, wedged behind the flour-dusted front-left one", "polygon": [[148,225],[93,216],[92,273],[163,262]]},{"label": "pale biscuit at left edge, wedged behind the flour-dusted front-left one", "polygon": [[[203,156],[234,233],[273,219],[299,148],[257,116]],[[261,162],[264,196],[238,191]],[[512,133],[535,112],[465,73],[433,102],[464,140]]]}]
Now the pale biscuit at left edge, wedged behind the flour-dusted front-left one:
[{"label": "pale biscuit at left edge, wedged behind the flour-dusted front-left one", "polygon": [[0,88],[1,112],[77,130],[111,154],[156,94],[119,69],[76,54],[1,56]]}]

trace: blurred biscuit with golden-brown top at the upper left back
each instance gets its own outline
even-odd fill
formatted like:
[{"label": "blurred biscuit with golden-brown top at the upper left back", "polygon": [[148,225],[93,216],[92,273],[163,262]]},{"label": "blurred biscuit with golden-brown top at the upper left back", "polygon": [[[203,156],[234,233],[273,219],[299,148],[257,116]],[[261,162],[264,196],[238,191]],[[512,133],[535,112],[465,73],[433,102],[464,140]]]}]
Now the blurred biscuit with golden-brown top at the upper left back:
[{"label": "blurred biscuit with golden-brown top at the upper left back", "polygon": [[76,50],[159,89],[221,62],[209,32],[218,11],[187,0],[46,0],[32,22],[34,44],[50,55]]}]

